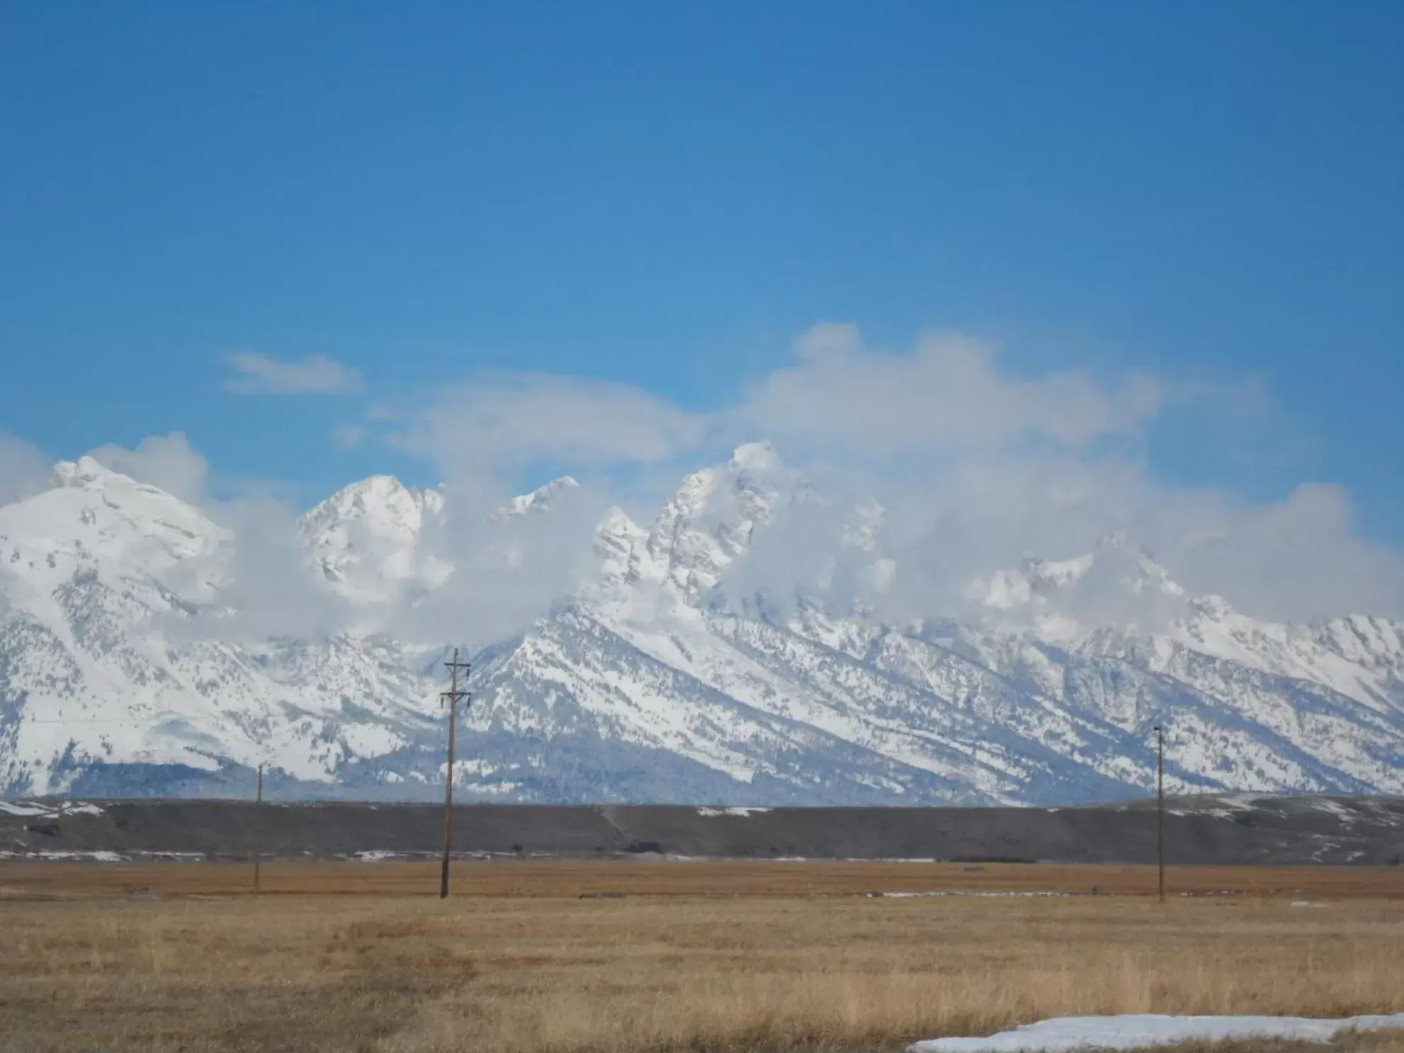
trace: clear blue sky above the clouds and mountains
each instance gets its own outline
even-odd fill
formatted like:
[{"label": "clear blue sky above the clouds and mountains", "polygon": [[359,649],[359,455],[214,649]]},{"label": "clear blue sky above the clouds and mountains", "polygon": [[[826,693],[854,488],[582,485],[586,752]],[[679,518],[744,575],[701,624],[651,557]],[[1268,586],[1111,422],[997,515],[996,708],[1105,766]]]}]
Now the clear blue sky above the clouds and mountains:
[{"label": "clear blue sky above the clouds and mountains", "polygon": [[[430,482],[366,410],[484,369],[715,414],[819,322],[956,329],[1009,383],[1212,392],[1144,421],[1161,484],[1338,483],[1401,545],[1401,37],[1394,3],[7,4],[0,430],[184,431],[314,500]],[[240,352],[341,393],[232,390]]]}]

